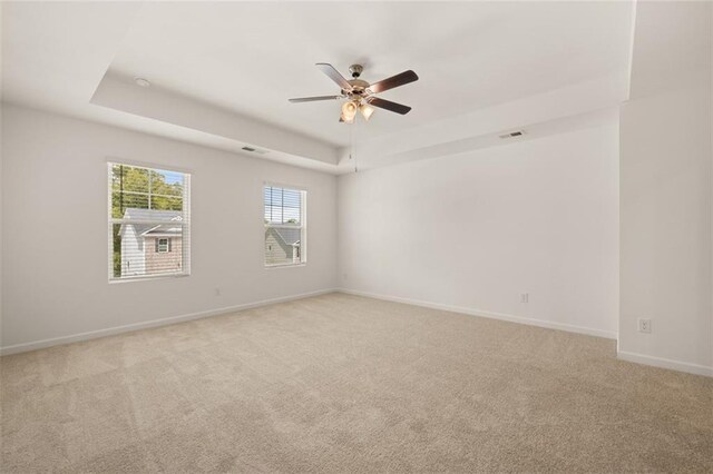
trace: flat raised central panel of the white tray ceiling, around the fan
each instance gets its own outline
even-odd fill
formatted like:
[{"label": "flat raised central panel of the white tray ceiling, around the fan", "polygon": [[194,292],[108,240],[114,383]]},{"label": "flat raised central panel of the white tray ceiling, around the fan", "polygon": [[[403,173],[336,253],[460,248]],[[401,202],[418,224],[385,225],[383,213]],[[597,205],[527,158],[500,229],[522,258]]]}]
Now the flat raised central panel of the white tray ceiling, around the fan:
[{"label": "flat raised central panel of the white tray ceiling, around the fan", "polygon": [[[338,146],[628,69],[629,2],[148,2],[110,71]],[[339,124],[339,93],[314,63],[361,63],[412,107]]]}]

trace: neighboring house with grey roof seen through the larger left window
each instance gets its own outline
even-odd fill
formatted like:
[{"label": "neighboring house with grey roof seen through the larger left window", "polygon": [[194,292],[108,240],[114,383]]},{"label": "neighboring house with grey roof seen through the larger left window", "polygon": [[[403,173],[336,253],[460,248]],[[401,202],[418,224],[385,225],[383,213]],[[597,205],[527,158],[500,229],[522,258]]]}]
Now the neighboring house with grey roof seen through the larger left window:
[{"label": "neighboring house with grey roof seen through the larger left window", "polygon": [[160,220],[166,224],[121,225],[121,275],[155,275],[180,271],[183,263],[182,226],[178,210],[128,208],[125,219]]}]

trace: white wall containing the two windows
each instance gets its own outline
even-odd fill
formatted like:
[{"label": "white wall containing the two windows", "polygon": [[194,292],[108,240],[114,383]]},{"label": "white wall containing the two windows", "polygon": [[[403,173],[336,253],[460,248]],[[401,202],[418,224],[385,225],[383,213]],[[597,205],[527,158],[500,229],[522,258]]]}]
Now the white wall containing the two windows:
[{"label": "white wall containing the two windows", "polygon": [[[334,176],[12,106],[2,117],[6,349],[335,286]],[[189,277],[107,282],[108,157],[192,171]],[[307,189],[304,267],[263,266],[266,180]]]}]

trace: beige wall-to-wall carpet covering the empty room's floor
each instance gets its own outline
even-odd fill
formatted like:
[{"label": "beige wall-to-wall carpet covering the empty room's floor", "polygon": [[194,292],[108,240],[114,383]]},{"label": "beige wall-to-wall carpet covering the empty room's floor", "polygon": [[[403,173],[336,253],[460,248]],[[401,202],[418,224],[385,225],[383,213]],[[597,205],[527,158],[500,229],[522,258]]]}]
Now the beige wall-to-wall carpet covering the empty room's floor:
[{"label": "beige wall-to-wall carpet covering the empty room's floor", "polygon": [[713,472],[713,379],[332,294],[1,359],[2,472]]}]

